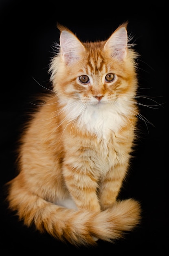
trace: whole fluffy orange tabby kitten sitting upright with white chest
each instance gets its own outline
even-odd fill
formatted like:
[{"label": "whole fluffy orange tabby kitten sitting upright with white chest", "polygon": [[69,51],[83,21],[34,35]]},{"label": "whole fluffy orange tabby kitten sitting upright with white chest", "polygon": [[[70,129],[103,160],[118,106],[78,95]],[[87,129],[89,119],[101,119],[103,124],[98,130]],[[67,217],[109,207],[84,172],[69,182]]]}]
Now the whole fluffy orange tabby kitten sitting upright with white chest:
[{"label": "whole fluffy orange tabby kitten sitting upright with white chest", "polygon": [[53,90],[20,138],[9,209],[75,246],[114,242],[141,220],[140,202],[119,200],[137,131],[137,53],[127,22],[104,41],[60,31],[49,65]]}]

